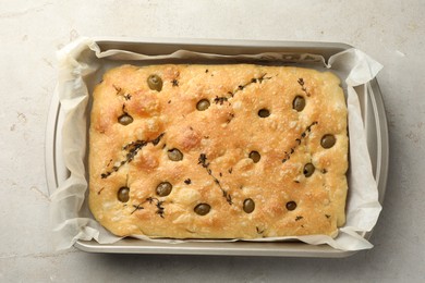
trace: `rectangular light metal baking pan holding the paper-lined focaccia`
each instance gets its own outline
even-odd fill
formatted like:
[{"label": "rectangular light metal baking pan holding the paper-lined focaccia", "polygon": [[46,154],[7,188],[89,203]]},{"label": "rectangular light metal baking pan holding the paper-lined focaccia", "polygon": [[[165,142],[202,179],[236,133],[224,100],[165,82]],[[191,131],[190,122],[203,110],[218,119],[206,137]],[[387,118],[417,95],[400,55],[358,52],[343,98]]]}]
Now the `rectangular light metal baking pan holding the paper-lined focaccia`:
[{"label": "rectangular light metal baking pan holding the paper-lined focaccia", "polygon": [[[201,39],[95,39],[102,51],[121,49],[149,56],[169,54],[177,50],[217,53],[224,56],[257,54],[263,52],[289,52],[293,54],[320,54],[326,60],[332,54],[352,48],[335,42],[256,41],[256,40],[201,40]],[[382,204],[388,173],[387,118],[377,79],[356,87],[365,124],[367,146],[373,173],[378,185],[379,202]],[[63,123],[59,97],[53,95],[46,128],[46,176],[52,193],[69,175],[61,156],[61,128]],[[372,232],[365,233],[365,238]],[[90,253],[167,254],[167,255],[228,255],[276,257],[348,257],[356,251],[343,251],[327,245],[308,245],[300,242],[187,242],[166,244],[123,238],[114,244],[98,244],[96,241],[77,241],[76,248]]]}]

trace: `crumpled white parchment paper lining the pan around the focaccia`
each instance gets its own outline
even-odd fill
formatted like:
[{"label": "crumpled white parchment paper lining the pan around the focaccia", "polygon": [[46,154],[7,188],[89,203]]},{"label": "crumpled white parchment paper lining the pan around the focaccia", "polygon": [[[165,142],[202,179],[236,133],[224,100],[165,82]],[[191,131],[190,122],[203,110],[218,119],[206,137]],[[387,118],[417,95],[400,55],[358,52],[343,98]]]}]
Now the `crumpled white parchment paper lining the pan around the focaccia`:
[{"label": "crumpled white parchment paper lining the pan around the focaccia", "polygon": [[[100,244],[110,244],[120,239],[93,219],[86,204],[87,173],[85,158],[89,87],[93,87],[94,82],[100,79],[106,69],[122,64],[124,61],[149,64],[161,62],[161,60],[191,62],[205,59],[212,59],[217,62],[239,62],[240,60],[247,62],[253,60],[256,62],[302,63],[303,66],[313,65],[317,69],[329,69],[345,81],[350,135],[350,177],[345,225],[340,227],[339,235],[336,238],[314,235],[250,241],[270,242],[298,238],[312,245],[328,244],[341,250],[372,248],[373,245],[363,235],[376,224],[381,206],[378,201],[377,184],[372,173],[364,124],[354,86],[366,84],[373,79],[382,67],[378,62],[354,48],[332,56],[328,62],[316,54],[299,56],[290,53],[219,56],[179,50],[172,54],[145,56],[125,50],[101,51],[97,44],[89,38],[80,38],[58,52],[59,82],[56,95],[59,95],[61,108],[65,112],[62,126],[62,153],[70,176],[51,195],[50,221],[56,248],[69,248],[77,239],[96,239]],[[94,78],[98,79],[95,81]],[[186,242],[137,237],[141,241],[174,244]]]}]

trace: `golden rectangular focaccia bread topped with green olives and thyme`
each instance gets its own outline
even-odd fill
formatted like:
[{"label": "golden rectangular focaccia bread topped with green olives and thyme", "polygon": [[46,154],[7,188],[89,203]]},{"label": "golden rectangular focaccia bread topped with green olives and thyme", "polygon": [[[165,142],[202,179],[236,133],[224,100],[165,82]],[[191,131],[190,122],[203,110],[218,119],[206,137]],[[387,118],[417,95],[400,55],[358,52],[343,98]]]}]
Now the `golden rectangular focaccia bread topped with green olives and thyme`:
[{"label": "golden rectangular focaccia bread topped with green olives and thyme", "polygon": [[339,84],[293,66],[108,71],[93,95],[94,217],[119,236],[336,236],[349,143]]}]

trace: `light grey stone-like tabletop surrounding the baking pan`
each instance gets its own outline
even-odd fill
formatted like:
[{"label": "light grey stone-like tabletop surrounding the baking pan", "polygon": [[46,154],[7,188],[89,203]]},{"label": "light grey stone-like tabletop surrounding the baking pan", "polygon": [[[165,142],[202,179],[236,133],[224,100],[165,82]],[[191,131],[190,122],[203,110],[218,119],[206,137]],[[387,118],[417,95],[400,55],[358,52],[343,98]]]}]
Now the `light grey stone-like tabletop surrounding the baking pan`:
[{"label": "light grey stone-like tabletop surrounding the baking pan", "polygon": [[[1,1],[0,282],[424,282],[423,1]],[[375,247],[345,259],[54,251],[44,170],[54,52],[77,36],[341,41],[385,65],[390,168]]]}]

